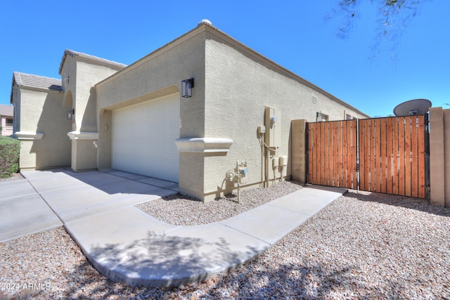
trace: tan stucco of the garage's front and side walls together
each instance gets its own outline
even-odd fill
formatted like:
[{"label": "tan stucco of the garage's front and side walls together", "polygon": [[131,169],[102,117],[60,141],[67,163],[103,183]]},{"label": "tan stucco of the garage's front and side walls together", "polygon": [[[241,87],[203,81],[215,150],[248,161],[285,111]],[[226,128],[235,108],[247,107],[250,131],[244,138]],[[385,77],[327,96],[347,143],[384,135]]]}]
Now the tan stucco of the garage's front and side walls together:
[{"label": "tan stucco of the garage's front and side walls together", "polygon": [[[111,111],[179,91],[181,80],[193,77],[192,98],[180,101],[181,138],[231,138],[229,152],[179,152],[179,186],[203,200],[231,192],[226,171],[245,159],[244,184],[259,184],[261,145],[257,126],[264,125],[265,107],[281,112],[281,145],[275,157],[290,157],[291,120],[316,121],[367,117],[297,75],[212,27],[201,25],[96,84],[98,168],[110,167]],[[313,98],[316,103],[313,103]],[[289,158],[290,159],[290,158]],[[271,162],[270,162],[271,165]],[[290,178],[290,162],[282,169]],[[269,177],[280,178],[270,167]]]}]

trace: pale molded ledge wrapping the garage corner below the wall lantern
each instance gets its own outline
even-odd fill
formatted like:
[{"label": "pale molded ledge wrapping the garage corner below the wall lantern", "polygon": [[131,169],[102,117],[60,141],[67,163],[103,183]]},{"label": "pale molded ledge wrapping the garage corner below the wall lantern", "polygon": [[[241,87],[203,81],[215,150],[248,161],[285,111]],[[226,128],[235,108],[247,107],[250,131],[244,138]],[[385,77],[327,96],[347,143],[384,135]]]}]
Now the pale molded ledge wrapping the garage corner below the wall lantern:
[{"label": "pale molded ledge wrapping the garage corner below the wall lantern", "polygon": [[179,152],[229,152],[231,138],[178,138],[175,141]]}]

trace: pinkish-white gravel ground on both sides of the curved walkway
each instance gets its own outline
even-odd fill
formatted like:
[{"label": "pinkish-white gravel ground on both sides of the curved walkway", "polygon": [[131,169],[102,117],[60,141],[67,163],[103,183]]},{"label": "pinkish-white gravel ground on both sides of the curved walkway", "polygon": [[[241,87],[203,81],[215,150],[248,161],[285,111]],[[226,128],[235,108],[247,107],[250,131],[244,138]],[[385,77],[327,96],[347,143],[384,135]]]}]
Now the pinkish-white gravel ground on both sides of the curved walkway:
[{"label": "pinkish-white gravel ground on both sides of the curved walkway", "polygon": [[[271,191],[248,192],[260,200],[269,197],[265,193]],[[229,200],[219,202],[228,205],[227,211],[238,207]],[[165,214],[179,219],[171,211],[180,207],[185,214],[195,211],[192,200],[157,203],[159,209],[147,209],[158,211],[160,219],[169,220]],[[221,211],[202,205],[204,214],[227,217],[222,204],[217,205]],[[450,299],[450,209],[425,200],[352,191],[254,261],[198,284],[162,289],[110,282],[91,267],[65,230],[57,228],[0,244],[0,299],[10,297]]]}]

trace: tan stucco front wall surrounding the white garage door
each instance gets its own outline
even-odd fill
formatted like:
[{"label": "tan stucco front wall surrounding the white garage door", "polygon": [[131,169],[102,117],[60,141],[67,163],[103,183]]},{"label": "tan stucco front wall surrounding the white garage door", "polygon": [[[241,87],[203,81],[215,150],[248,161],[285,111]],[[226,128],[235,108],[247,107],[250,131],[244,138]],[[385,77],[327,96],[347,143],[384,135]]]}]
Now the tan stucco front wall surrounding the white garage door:
[{"label": "tan stucco front wall surrounding the white garage door", "polygon": [[[180,100],[180,136],[205,136],[205,32],[196,30],[145,58],[129,65],[113,77],[96,84],[99,124],[99,169],[110,167],[110,112],[179,93],[183,79],[194,78],[191,98]],[[105,127],[106,125],[106,127]],[[108,128],[108,129],[105,129]],[[179,153],[179,186],[184,193],[203,197],[203,157]]]}]

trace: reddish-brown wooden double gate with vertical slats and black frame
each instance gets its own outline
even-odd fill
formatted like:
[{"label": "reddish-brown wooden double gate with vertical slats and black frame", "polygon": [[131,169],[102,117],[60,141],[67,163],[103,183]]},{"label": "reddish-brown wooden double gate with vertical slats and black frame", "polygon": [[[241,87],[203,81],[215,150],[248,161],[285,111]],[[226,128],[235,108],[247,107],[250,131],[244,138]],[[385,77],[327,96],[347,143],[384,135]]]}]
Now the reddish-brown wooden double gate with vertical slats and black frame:
[{"label": "reddish-brown wooden double gate with vertical slats and black frame", "polygon": [[424,115],[307,125],[307,182],[427,197]]}]

